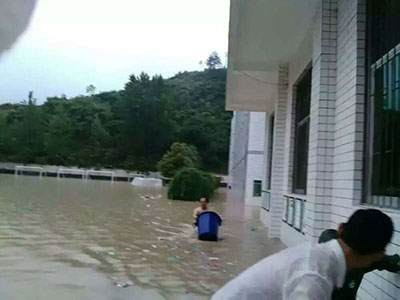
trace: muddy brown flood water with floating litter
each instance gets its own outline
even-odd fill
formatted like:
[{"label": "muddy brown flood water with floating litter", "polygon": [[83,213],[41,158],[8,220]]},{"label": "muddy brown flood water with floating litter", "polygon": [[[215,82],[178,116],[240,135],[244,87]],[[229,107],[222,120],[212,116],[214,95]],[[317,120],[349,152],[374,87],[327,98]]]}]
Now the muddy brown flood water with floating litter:
[{"label": "muddy brown flood water with floating litter", "polygon": [[210,204],[223,219],[217,243],[193,234],[195,203],[165,195],[123,182],[0,175],[0,299],[209,299],[283,248],[267,238],[259,209],[225,190]]}]

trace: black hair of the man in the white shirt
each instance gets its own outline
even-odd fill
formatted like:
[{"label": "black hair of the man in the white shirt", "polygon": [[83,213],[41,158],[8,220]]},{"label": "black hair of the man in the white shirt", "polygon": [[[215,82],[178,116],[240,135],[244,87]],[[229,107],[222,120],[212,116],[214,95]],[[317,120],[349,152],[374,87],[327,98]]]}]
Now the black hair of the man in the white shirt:
[{"label": "black hair of the man in the white shirt", "polygon": [[361,255],[384,251],[393,236],[393,222],[377,209],[357,210],[343,226],[339,238]]}]

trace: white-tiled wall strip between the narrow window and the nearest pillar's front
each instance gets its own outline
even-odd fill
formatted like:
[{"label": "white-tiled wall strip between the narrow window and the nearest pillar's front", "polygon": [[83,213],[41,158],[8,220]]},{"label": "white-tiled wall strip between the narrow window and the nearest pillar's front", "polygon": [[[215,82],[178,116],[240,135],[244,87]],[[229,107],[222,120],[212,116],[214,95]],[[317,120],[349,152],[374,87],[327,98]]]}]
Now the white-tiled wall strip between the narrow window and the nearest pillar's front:
[{"label": "white-tiled wall strip between the narrow window and the nearest pillar's front", "polygon": [[305,233],[315,240],[330,227],[336,100],[337,0],[315,15]]}]

